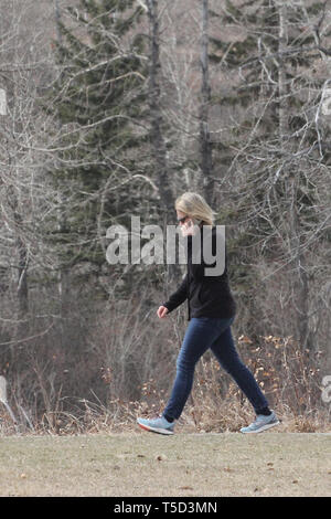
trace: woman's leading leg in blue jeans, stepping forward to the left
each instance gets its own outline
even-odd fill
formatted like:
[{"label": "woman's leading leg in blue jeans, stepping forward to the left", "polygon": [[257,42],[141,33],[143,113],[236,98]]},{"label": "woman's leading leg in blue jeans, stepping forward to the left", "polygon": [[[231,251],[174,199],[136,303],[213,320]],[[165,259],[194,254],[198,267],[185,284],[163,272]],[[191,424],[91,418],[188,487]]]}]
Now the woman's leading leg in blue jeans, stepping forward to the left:
[{"label": "woman's leading leg in blue jeans, stepping forward to the left", "polygon": [[213,317],[193,317],[190,320],[177,360],[172,392],[163,411],[167,420],[180,417],[192,390],[196,362],[231,322],[232,319]]}]

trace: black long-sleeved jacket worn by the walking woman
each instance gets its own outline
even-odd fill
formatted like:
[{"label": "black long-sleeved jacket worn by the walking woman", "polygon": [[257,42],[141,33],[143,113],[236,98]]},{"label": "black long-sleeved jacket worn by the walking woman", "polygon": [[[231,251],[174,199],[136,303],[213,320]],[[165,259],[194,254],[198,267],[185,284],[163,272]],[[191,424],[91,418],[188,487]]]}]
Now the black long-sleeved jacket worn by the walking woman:
[{"label": "black long-sleeved jacket worn by the walking woman", "polygon": [[[191,317],[234,317],[236,304],[228,286],[226,252],[224,253],[225,265],[222,274],[210,276],[205,273],[205,268],[214,268],[216,266],[217,260],[211,264],[205,263],[204,258],[207,256],[203,254],[203,246],[212,244],[213,256],[216,255],[216,243],[217,247],[222,246],[222,244],[225,247],[224,240],[222,242],[222,237],[220,239],[220,233],[216,242],[216,232],[218,231],[215,225],[202,225],[200,233],[201,246],[197,252],[196,247],[192,247],[192,236],[186,236],[188,255],[185,257],[188,272],[179,288],[162,304],[162,306],[168,308],[169,313],[188,299],[188,320]],[[204,241],[203,236],[206,236],[210,241]],[[195,257],[195,262],[193,257]]]}]

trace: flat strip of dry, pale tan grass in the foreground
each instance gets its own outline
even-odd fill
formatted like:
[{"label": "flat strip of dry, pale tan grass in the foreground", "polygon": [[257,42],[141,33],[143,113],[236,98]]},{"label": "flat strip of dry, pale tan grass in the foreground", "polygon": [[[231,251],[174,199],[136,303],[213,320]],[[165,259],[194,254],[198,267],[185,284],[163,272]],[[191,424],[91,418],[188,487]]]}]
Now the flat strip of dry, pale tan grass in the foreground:
[{"label": "flat strip of dry, pale tan grass in the foreground", "polygon": [[1,496],[330,496],[331,435],[0,437]]}]

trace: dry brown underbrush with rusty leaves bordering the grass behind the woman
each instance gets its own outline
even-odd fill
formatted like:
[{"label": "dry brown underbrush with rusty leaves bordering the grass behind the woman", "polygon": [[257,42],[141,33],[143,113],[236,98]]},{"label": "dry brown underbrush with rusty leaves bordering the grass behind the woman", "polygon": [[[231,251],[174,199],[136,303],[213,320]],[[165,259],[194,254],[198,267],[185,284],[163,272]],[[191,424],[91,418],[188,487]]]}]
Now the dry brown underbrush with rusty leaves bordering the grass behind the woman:
[{"label": "dry brown underbrush with rusty leaves bordering the grass behind the woman", "polygon": [[[237,342],[238,349],[245,352],[243,360],[281,422],[275,432],[329,432],[330,407],[321,399],[318,356],[311,359],[309,351],[300,351],[291,338],[269,336],[263,339],[259,348],[249,349],[252,342],[247,337],[239,337]],[[150,378],[141,385],[139,400],[115,398],[103,404],[97,398],[95,401],[81,399],[71,403],[71,411],[63,409],[66,399],[60,398],[56,406],[38,420],[28,422],[26,413],[25,420],[22,412],[18,413],[20,421],[17,424],[2,409],[0,434],[71,435],[132,431],[136,430],[137,416],[153,416],[162,412],[170,389],[171,385],[160,388],[159,381]],[[212,354],[206,353],[196,367],[194,388],[178,428],[188,433],[237,432],[253,417],[249,402]]]}]

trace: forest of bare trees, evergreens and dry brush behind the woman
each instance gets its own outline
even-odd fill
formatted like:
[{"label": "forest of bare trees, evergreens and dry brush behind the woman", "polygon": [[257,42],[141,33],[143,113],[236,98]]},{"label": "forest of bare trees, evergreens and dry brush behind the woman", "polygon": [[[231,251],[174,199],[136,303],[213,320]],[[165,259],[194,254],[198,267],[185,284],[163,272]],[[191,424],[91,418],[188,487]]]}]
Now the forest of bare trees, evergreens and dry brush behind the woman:
[{"label": "forest of bare trees, evergreens and dry brush behind the woman", "polygon": [[[157,309],[184,266],[110,265],[107,229],[175,224],[184,191],[226,225],[243,359],[289,428],[325,426],[330,56],[330,1],[1,0],[1,431],[161,409],[188,316]],[[205,354],[183,423],[248,416]]]}]

